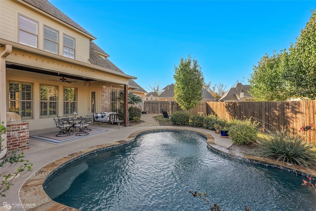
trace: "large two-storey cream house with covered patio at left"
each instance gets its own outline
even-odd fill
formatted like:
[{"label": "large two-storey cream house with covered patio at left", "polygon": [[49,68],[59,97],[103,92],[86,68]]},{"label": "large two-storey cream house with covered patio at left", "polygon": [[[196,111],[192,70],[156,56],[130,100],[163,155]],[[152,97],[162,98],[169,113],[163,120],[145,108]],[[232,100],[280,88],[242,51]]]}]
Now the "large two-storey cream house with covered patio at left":
[{"label": "large two-storey cream house with covered patio at left", "polygon": [[[118,94],[146,91],[109,59],[96,38],[47,0],[0,1],[0,121],[14,112],[29,129],[57,116],[118,110]],[[127,94],[124,94],[127,126]]]}]

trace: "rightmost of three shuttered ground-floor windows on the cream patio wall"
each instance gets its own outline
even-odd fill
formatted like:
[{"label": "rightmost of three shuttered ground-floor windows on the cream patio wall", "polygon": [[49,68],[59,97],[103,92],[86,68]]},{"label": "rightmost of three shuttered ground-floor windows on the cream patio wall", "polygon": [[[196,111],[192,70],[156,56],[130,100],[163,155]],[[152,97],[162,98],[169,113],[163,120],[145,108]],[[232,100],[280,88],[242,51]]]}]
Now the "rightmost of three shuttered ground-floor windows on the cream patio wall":
[{"label": "rightmost of three shuttered ground-floor windows on the cream patio wall", "polygon": [[[64,87],[64,116],[73,115],[77,110],[77,88]],[[78,112],[78,111],[77,111]]]}]

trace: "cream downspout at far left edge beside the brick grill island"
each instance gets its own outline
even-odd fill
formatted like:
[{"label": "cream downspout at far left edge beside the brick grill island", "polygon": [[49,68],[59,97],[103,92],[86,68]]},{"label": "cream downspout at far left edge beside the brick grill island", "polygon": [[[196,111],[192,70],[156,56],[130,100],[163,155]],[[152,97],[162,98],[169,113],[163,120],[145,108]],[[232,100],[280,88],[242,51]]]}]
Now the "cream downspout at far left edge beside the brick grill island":
[{"label": "cream downspout at far left edge beside the brick grill island", "polygon": [[[5,58],[12,52],[12,45],[5,45],[5,49],[0,54],[0,122],[3,121],[6,127],[6,76],[5,76]],[[1,135],[0,158],[6,155],[6,133]]]}]

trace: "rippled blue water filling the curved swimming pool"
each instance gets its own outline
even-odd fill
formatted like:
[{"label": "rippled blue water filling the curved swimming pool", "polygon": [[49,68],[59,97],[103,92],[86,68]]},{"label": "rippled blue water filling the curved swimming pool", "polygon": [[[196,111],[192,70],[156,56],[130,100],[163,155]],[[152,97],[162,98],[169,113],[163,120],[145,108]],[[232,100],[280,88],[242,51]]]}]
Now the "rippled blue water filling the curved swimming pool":
[{"label": "rippled blue water filling the curved swimming pool", "polygon": [[53,200],[82,211],[315,211],[302,176],[225,158],[188,131],[143,133],[128,146],[80,158],[50,176]]}]

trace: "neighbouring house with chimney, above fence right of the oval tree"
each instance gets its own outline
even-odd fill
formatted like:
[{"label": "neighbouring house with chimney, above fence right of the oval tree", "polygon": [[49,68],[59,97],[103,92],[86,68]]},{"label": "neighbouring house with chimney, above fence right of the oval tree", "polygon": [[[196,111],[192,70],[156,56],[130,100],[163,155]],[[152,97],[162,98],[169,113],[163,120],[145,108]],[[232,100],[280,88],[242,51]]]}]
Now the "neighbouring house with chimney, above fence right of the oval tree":
[{"label": "neighbouring house with chimney, above fence right of the oval tree", "polygon": [[250,86],[241,83],[236,84],[228,90],[218,101],[220,102],[246,102],[254,101],[254,98],[248,93]]}]

